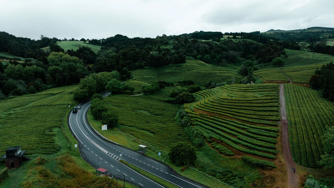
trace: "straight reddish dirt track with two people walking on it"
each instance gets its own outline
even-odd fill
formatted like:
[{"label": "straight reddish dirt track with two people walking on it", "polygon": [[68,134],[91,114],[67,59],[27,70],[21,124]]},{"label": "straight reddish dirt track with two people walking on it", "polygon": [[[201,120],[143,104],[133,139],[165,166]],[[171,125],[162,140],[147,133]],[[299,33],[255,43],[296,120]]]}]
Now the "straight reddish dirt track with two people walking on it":
[{"label": "straight reddish dirt track with two people walking on it", "polygon": [[[289,78],[290,79],[290,78]],[[281,143],[284,162],[288,173],[288,188],[298,188],[299,180],[297,173],[291,172],[291,168],[295,168],[295,162],[292,160],[290,144],[289,144],[289,131],[287,110],[285,108],[284,90],[283,84],[280,84],[280,112],[281,112]]]}]

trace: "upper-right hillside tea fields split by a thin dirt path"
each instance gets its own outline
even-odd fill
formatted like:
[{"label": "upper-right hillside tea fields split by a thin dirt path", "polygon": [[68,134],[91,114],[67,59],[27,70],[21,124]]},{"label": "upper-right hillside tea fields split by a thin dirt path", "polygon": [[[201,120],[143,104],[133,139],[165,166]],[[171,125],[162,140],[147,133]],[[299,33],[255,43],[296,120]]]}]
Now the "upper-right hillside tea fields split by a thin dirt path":
[{"label": "upper-right hillside tea fields split by a thin dirt path", "polygon": [[[334,61],[334,56],[307,51],[297,51],[285,49],[288,58],[284,59],[285,65],[280,67],[287,74],[292,82],[307,84],[316,68],[321,68],[323,64]],[[261,77],[265,81],[289,81],[289,79],[276,67],[271,64],[254,71],[254,75]]]}]

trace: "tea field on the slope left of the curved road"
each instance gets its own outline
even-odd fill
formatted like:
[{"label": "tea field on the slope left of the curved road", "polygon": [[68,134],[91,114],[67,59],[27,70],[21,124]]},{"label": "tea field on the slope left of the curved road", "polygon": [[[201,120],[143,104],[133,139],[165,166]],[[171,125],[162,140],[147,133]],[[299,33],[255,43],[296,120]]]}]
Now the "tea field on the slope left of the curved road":
[{"label": "tea field on the slope left of the curved road", "polygon": [[[27,154],[51,154],[59,150],[52,129],[73,103],[77,86],[48,89],[36,94],[0,101],[0,151],[21,146]],[[0,153],[2,155],[2,153]]]}]

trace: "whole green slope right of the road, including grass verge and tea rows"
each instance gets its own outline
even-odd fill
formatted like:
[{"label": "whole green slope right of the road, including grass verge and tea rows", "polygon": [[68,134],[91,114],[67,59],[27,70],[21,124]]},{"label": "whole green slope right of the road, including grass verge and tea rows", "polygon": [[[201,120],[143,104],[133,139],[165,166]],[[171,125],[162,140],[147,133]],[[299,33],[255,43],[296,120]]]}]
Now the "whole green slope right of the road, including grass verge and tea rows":
[{"label": "whole green slope right of the road, including grass verge and tea rows", "polygon": [[[100,131],[101,122],[94,120],[90,114],[89,122],[105,137],[125,147],[138,150],[139,144],[147,145],[146,155],[161,162],[164,158],[164,163],[179,174],[209,187],[248,187],[250,182],[259,179],[258,171],[253,167],[241,160],[225,158],[207,145],[197,151],[198,160],[195,167],[181,172],[180,167],[171,163],[167,156],[171,143],[190,143],[189,136],[174,119],[180,105],[164,102],[170,98],[173,89],[178,88],[166,87],[154,95],[106,97],[104,103],[109,110],[119,115],[120,125],[115,129]],[[161,152],[160,157],[157,155],[158,152]]]}]

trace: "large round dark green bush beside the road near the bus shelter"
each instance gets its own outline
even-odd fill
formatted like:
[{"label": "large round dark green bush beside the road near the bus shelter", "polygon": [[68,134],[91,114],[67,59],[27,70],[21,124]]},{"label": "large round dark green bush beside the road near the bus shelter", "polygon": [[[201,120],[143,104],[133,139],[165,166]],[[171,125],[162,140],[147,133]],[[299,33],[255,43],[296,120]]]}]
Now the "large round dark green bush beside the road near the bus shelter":
[{"label": "large round dark green bush beside the road near the bus shelter", "polygon": [[172,144],[168,156],[177,166],[195,165],[197,159],[195,147],[185,142]]}]

